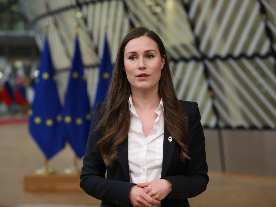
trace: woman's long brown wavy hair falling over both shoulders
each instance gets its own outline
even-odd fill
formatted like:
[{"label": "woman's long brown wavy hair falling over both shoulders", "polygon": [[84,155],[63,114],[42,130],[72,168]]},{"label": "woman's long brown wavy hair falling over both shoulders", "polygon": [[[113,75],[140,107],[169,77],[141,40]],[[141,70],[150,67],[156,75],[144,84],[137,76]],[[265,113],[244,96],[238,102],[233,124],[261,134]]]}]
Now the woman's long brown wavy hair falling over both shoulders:
[{"label": "woman's long brown wavy hair falling over both shoulders", "polygon": [[158,89],[164,105],[164,119],[170,135],[181,147],[180,159],[183,162],[185,159],[190,159],[188,156],[189,122],[173,87],[166,49],[155,32],[145,27],[138,27],[131,30],[120,44],[106,104],[104,109],[102,109],[103,116],[94,129],[95,131],[101,130],[101,138],[97,142],[97,146],[107,166],[118,161],[117,150],[127,138],[130,125],[128,101],[131,87],[123,70],[124,48],[130,40],[141,36],[154,40],[158,45],[161,57],[166,56],[164,67],[161,70]]}]

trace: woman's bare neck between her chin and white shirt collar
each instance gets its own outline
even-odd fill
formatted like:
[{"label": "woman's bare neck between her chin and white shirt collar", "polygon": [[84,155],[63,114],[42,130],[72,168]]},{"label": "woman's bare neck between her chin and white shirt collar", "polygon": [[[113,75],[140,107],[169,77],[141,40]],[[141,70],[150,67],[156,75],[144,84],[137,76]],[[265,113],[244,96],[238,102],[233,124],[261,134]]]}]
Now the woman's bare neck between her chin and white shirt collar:
[{"label": "woman's bare neck between her chin and white shirt collar", "polygon": [[160,104],[161,97],[158,93],[158,87],[150,91],[141,91],[131,89],[133,106],[143,111],[156,110]]}]

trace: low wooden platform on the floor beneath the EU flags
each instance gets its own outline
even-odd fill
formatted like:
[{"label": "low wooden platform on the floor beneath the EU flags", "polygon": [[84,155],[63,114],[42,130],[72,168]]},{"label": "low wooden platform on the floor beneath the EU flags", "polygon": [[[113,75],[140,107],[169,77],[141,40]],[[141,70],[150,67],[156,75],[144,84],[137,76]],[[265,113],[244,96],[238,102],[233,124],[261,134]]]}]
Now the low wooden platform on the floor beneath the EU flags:
[{"label": "low wooden platform on the floor beneath the EU flags", "polygon": [[27,175],[24,189],[29,192],[75,192],[83,191],[79,175]]}]

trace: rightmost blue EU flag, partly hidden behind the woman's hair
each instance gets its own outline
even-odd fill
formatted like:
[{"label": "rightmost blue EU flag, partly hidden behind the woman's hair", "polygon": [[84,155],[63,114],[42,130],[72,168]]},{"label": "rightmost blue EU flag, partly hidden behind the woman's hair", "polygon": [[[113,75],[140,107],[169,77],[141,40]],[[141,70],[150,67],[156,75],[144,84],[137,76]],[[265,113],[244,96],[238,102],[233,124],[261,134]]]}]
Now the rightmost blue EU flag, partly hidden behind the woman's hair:
[{"label": "rightmost blue EU flag, partly hidden behind the woman's hair", "polygon": [[110,60],[110,52],[108,48],[107,36],[104,39],[104,52],[101,58],[101,64],[99,69],[99,82],[97,87],[97,93],[94,103],[94,110],[97,103],[105,101],[106,93],[108,91],[111,73],[112,73],[112,63]]}]

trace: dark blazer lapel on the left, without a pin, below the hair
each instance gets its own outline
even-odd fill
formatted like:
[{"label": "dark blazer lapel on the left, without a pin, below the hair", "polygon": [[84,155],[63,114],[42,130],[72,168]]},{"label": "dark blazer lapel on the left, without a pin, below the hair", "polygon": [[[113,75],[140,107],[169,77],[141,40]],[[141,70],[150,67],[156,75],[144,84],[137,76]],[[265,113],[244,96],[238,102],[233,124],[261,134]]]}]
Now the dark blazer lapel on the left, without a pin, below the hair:
[{"label": "dark blazer lapel on the left, without a pin, below the hair", "polygon": [[128,137],[122,143],[122,146],[118,148],[118,158],[122,170],[124,172],[124,176],[126,177],[127,181],[130,182],[129,178],[129,156],[128,156]]}]

